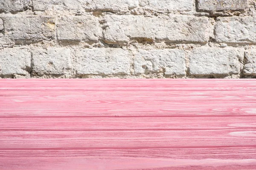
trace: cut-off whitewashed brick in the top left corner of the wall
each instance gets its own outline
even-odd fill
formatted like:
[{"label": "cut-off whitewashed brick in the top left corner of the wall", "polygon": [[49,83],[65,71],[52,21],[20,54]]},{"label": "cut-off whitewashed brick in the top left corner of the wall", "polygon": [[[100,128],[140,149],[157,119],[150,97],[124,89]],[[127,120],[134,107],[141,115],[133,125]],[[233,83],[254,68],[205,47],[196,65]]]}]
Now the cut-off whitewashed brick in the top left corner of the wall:
[{"label": "cut-off whitewashed brick in the top left corner of the wall", "polygon": [[30,2],[31,0],[0,0],[0,13],[25,11]]}]

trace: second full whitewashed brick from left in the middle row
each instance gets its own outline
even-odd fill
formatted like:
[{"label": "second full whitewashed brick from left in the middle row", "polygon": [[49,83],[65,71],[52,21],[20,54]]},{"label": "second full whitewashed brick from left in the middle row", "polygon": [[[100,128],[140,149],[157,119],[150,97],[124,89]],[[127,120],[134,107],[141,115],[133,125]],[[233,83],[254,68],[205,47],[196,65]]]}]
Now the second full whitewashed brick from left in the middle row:
[{"label": "second full whitewashed brick from left in the middle row", "polygon": [[102,37],[99,19],[93,16],[63,16],[56,26],[58,40],[96,42]]}]

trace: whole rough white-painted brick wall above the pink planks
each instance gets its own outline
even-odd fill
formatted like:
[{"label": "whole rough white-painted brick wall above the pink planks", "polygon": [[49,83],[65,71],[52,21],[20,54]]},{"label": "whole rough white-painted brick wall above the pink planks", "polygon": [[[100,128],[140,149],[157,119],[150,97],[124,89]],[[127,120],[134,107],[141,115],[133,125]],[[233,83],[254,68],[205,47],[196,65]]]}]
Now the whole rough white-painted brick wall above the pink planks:
[{"label": "whole rough white-painted brick wall above the pink planks", "polygon": [[0,0],[1,78],[255,78],[255,0]]}]

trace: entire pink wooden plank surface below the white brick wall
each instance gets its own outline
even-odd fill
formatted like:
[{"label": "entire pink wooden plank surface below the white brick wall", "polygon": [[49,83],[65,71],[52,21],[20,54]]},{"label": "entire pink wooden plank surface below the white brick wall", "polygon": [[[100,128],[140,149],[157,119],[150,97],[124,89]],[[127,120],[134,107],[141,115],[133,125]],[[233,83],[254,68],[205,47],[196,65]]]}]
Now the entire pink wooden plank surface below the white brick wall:
[{"label": "entire pink wooden plank surface below the white brick wall", "polygon": [[256,170],[256,80],[0,79],[0,170]]}]

